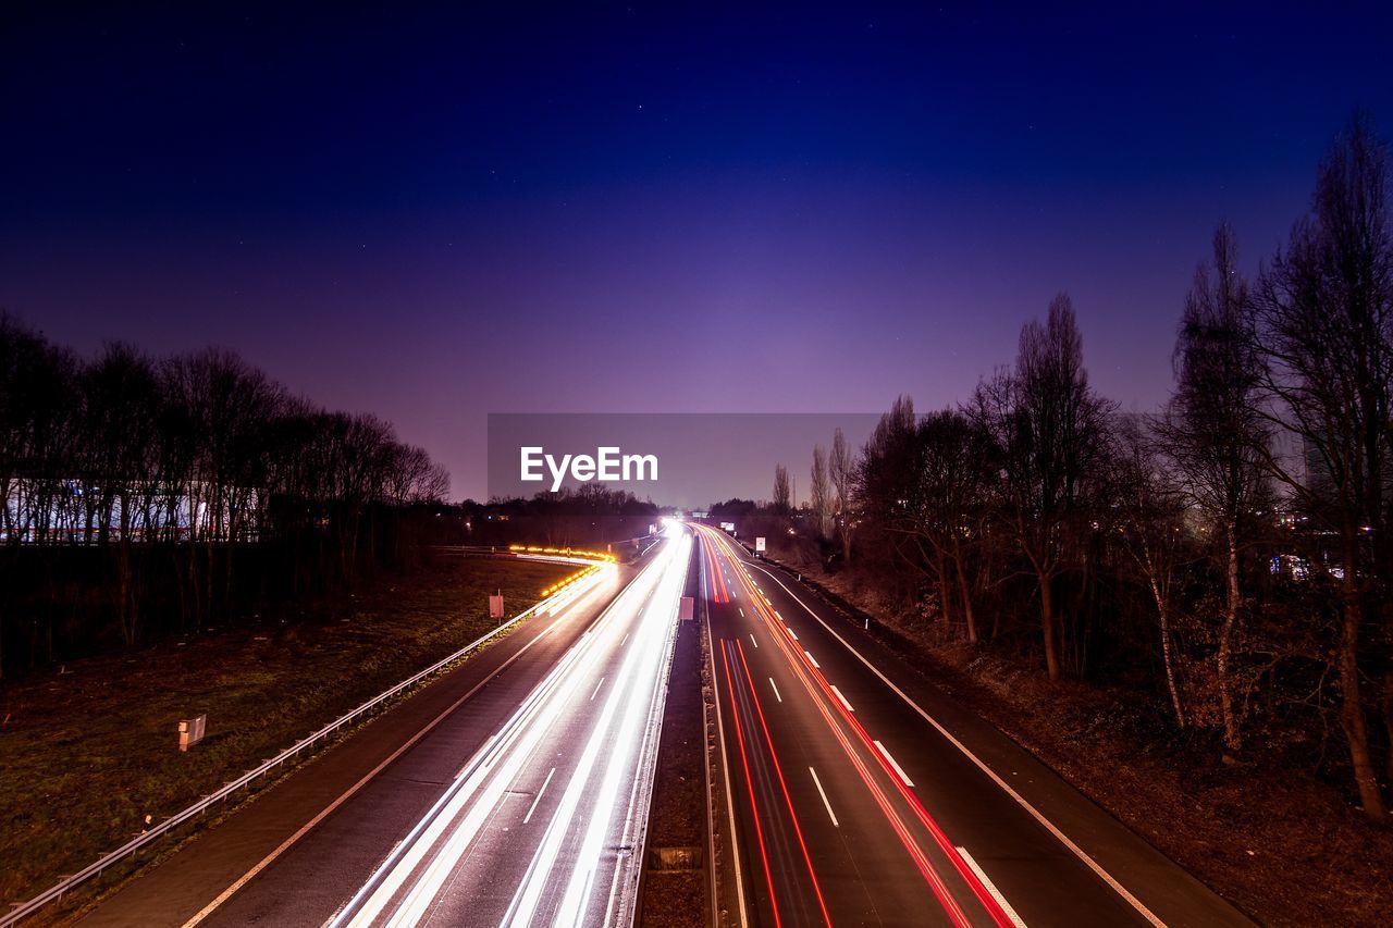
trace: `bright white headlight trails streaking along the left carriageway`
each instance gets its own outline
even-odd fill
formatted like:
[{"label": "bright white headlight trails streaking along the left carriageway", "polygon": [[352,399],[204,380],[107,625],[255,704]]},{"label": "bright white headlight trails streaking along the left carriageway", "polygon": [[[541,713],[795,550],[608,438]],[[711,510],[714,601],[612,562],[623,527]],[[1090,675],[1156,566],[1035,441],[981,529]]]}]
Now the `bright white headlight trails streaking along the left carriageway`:
[{"label": "bright white headlight trails streaking along the left carriageway", "polygon": [[[671,534],[678,536],[667,542],[532,690],[495,738],[465,764],[446,793],[344,907],[334,925],[417,925],[430,915],[443,893],[462,892],[458,875],[474,875],[474,871],[460,869],[462,861],[485,835],[500,840],[493,830],[495,812],[511,793],[520,791],[515,782],[540,769],[539,758],[554,755],[556,745],[574,738],[573,732],[578,727],[588,732],[579,751],[566,751],[567,761],[552,768],[522,819],[524,823],[531,821],[542,794],[557,776],[566,787],[545,829],[534,832],[534,837],[525,837],[524,832],[507,836],[508,842],[529,842],[524,847],[532,853],[525,872],[507,876],[518,882],[503,921],[528,924],[545,918],[574,924],[585,920],[596,874],[603,867],[614,869],[613,888],[637,886],[637,879],[620,881],[620,871],[638,863],[603,851],[617,825],[631,823],[635,817],[635,810],[627,810],[628,819],[624,818],[620,786],[652,773],[655,750],[648,743],[656,744],[662,720],[663,670],[671,654],[677,605],[692,548],[691,538],[680,528]],[[579,598],[581,591],[575,595]],[[635,647],[623,648],[630,638]],[[596,713],[589,702],[606,683],[606,698]],[[637,789],[625,793],[628,804],[637,794]],[[646,803],[637,815],[641,836],[646,829]],[[577,844],[579,853],[575,853]],[[517,860],[517,856],[508,857]],[[499,876],[479,874],[479,878]]]}]

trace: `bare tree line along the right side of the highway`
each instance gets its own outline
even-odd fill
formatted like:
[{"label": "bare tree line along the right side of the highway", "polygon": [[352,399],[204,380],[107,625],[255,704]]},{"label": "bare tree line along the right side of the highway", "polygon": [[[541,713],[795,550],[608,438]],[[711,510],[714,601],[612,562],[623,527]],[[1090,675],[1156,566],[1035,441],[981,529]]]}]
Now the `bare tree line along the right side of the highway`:
[{"label": "bare tree line along the right side of the highway", "polygon": [[[925,634],[1028,651],[1050,680],[1155,688],[1170,725],[1226,755],[1311,757],[1337,730],[1339,768],[1386,822],[1389,178],[1355,114],[1255,279],[1217,227],[1162,411],[1124,415],[1092,387],[1061,293],[968,401],[925,415],[901,397],[858,454],[840,435],[830,458],[815,449],[800,534],[903,589]],[[776,511],[787,482],[780,468]]]}]

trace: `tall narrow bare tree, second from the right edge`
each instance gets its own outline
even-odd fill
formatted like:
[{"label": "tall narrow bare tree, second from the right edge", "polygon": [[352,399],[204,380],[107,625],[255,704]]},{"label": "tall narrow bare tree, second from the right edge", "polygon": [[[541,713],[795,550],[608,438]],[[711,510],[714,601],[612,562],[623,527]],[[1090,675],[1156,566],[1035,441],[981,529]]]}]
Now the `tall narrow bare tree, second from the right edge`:
[{"label": "tall narrow bare tree, second from the right edge", "polygon": [[1213,263],[1195,269],[1176,341],[1176,392],[1163,433],[1191,506],[1223,539],[1224,613],[1215,655],[1224,744],[1241,744],[1234,708],[1234,635],[1244,609],[1240,557],[1254,517],[1270,510],[1263,470],[1269,426],[1259,411],[1262,364],[1250,337],[1248,284],[1233,231],[1220,224]]}]

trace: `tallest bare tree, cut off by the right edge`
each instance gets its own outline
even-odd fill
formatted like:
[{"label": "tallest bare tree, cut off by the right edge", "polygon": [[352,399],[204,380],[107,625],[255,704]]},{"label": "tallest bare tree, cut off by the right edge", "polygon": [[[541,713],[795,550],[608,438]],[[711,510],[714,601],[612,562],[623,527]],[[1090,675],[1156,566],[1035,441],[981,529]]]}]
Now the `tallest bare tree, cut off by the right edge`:
[{"label": "tallest bare tree, cut off by the right edge", "polygon": [[[1340,564],[1339,719],[1360,801],[1387,819],[1369,747],[1361,634],[1389,624],[1386,532],[1393,393],[1393,237],[1389,152],[1368,117],[1336,138],[1316,177],[1312,215],[1263,270],[1255,325],[1275,415],[1304,446],[1311,477],[1270,461],[1307,513],[1334,532]],[[1385,658],[1383,686],[1393,686]],[[1385,701],[1389,709],[1393,702]],[[1393,736],[1393,719],[1386,719]]]}]

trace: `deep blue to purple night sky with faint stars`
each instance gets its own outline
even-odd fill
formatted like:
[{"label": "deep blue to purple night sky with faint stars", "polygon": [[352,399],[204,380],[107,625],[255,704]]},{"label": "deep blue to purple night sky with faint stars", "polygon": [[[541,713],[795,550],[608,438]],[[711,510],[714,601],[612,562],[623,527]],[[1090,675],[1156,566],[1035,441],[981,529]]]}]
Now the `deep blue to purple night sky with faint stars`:
[{"label": "deep blue to purple night sky with faint stars", "polygon": [[0,307],[235,348],[461,497],[490,411],[931,408],[1061,288],[1155,408],[1215,223],[1255,268],[1353,107],[1393,135],[1375,4],[219,6],[6,4]]}]

